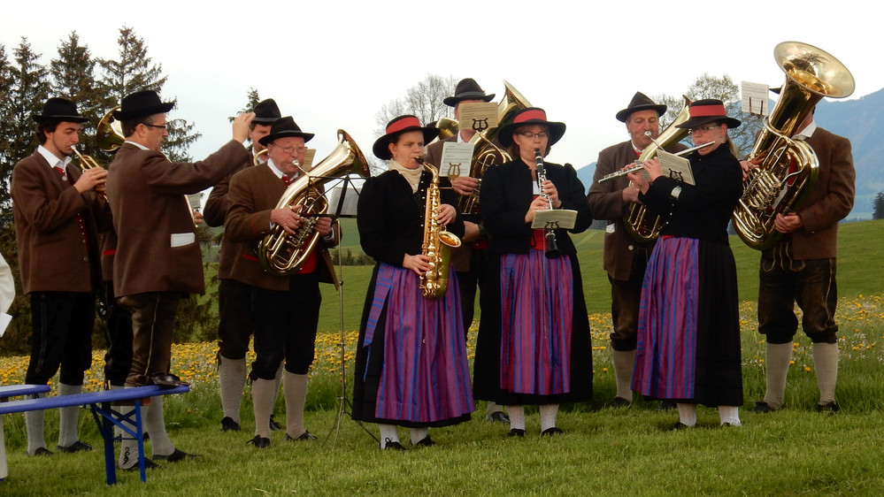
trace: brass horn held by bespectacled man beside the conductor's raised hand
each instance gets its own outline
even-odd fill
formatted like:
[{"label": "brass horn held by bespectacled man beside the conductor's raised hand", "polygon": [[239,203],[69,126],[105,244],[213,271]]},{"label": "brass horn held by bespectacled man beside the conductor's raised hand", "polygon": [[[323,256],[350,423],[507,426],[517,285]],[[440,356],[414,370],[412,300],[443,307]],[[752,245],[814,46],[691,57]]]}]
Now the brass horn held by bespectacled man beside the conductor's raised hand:
[{"label": "brass horn held by bespectacled man beside the conductor's raised hand", "polygon": [[304,219],[295,234],[288,234],[281,226],[276,226],[258,244],[258,261],[265,271],[288,275],[304,264],[319,241],[319,232],[314,229],[317,216],[328,210],[324,185],[346,174],[367,178],[368,161],[350,134],[339,129],[338,146],[310,172],[302,172],[276,203],[276,209],[294,209],[301,205],[298,214]]}]

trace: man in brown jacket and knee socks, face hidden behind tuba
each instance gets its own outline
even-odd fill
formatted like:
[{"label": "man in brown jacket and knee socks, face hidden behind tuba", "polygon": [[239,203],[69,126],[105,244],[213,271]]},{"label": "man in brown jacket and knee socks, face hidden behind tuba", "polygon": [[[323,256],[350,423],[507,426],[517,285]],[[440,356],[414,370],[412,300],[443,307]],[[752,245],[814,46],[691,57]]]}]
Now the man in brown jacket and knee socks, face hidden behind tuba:
[{"label": "man in brown jacket and knee socks, face hidden behind tuba", "polygon": [[[818,127],[813,112],[797,126],[793,136],[806,141],[819,158],[819,176],[801,208],[774,222],[783,236],[761,253],[758,285],[758,332],[765,335],[767,351],[765,398],[754,411],[780,409],[786,394],[786,376],[792,360],[792,340],[798,330],[795,303],[803,310],[802,327],[813,342],[817,372],[817,410],[836,412],[838,378],[838,303],[835,256],[838,222],[853,209],[856,171],[850,141]],[[743,163],[743,169],[749,167]]]}]

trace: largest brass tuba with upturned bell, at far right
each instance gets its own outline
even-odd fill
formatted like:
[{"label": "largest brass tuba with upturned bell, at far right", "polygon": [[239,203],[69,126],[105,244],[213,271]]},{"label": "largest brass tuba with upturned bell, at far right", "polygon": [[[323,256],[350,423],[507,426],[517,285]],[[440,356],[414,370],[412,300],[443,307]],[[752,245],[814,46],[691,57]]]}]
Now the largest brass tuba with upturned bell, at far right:
[{"label": "largest brass tuba with upturned bell, at far right", "polygon": [[734,210],[734,229],[751,248],[777,241],[777,214],[787,214],[817,180],[819,161],[811,146],[791,136],[824,96],[843,98],[855,88],[853,75],[837,58],[801,42],[781,42],[773,50],[786,83],[749,155],[756,164]]}]

